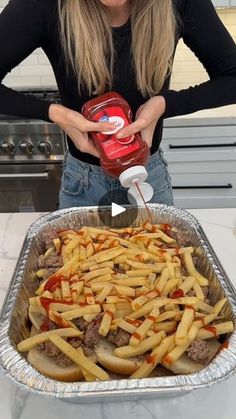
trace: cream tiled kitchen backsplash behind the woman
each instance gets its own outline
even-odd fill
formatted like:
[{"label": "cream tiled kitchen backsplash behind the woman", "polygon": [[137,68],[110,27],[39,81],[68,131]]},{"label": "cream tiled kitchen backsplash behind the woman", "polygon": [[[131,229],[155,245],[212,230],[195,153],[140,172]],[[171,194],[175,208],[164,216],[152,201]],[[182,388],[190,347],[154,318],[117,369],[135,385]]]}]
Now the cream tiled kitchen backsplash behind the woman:
[{"label": "cream tiled kitchen backsplash behind the woman", "polygon": [[[0,12],[8,0],[0,0]],[[236,9],[218,10],[219,16],[236,41]],[[195,55],[179,42],[172,74],[171,87],[176,90],[199,84],[208,79],[207,73]],[[4,79],[9,87],[56,86],[50,63],[41,49],[37,49]]]}]

